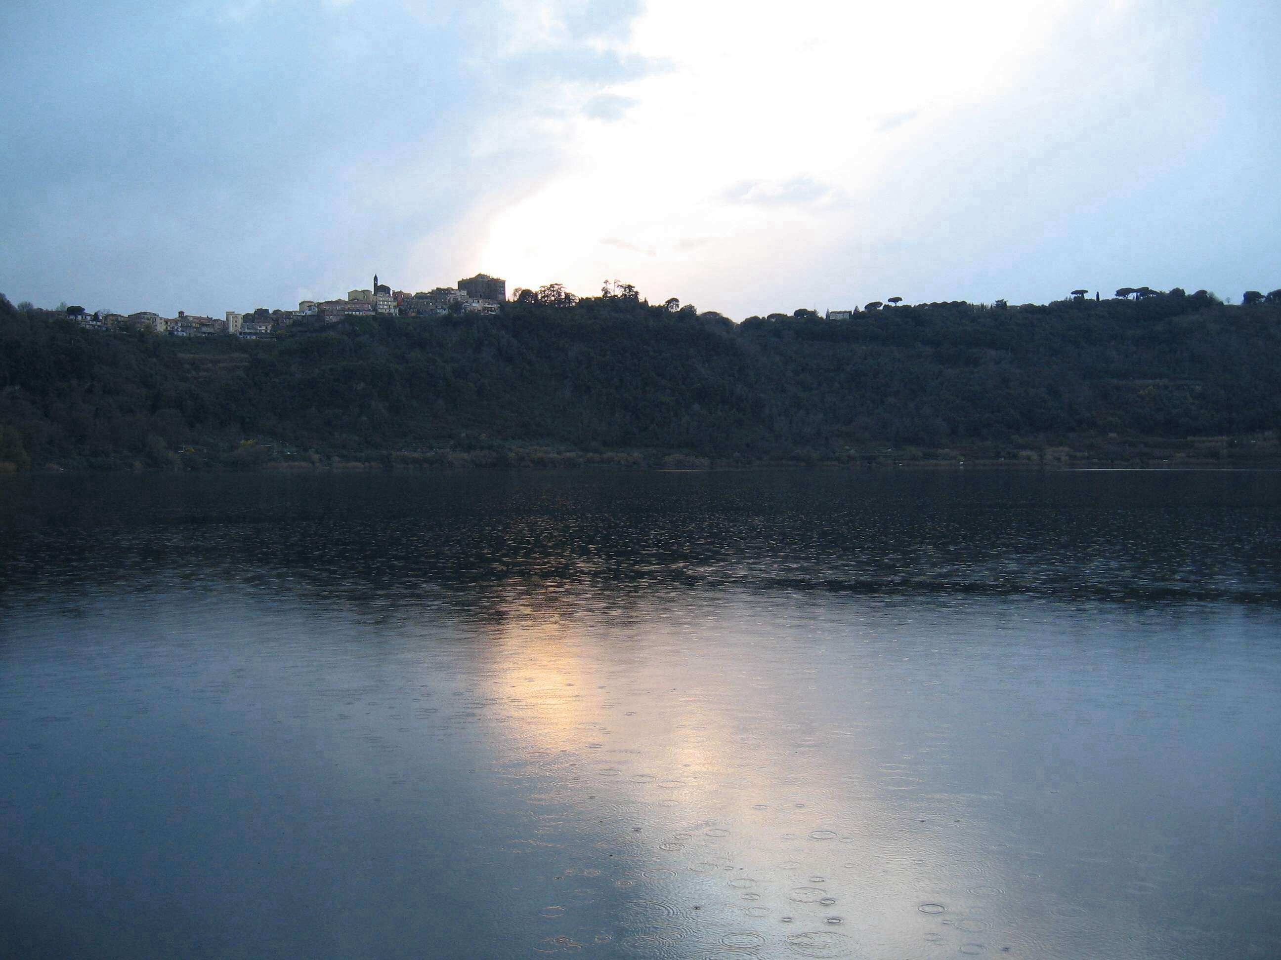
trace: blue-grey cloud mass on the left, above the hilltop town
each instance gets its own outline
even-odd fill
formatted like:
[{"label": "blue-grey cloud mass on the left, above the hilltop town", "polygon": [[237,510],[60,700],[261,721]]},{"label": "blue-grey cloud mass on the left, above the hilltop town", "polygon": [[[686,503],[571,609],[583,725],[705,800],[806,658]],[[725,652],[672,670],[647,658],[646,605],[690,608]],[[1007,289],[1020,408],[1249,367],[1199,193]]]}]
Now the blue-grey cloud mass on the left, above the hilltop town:
[{"label": "blue-grey cloud mass on the left, above the hilltop town", "polygon": [[[500,0],[427,19],[393,0],[5,5],[23,44],[0,58],[0,291],[173,314],[374,270],[452,280],[469,218],[562,163],[538,115],[605,109],[596,91],[647,69],[600,44],[635,10],[566,4],[564,29],[509,49],[475,28],[505,23]],[[446,232],[456,262],[419,275],[414,248]]]}]

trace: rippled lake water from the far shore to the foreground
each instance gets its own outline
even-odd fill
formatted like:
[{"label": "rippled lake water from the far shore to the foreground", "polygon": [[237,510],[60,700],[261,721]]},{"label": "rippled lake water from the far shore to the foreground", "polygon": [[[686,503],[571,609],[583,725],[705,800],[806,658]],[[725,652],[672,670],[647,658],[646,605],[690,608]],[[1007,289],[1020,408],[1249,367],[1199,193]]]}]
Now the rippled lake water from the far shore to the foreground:
[{"label": "rippled lake water from the far shore to the foreground", "polygon": [[1281,475],[0,477],[0,955],[1281,955]]}]

